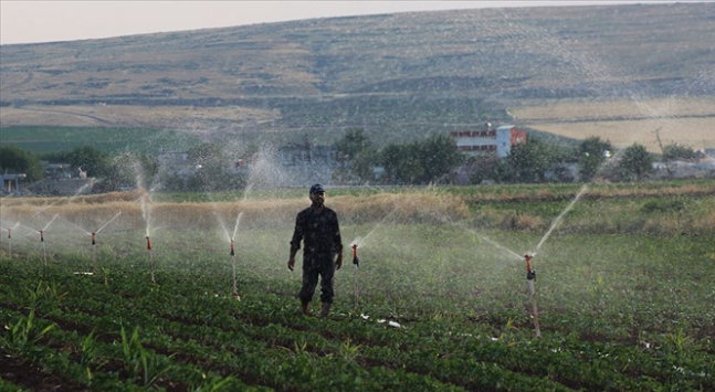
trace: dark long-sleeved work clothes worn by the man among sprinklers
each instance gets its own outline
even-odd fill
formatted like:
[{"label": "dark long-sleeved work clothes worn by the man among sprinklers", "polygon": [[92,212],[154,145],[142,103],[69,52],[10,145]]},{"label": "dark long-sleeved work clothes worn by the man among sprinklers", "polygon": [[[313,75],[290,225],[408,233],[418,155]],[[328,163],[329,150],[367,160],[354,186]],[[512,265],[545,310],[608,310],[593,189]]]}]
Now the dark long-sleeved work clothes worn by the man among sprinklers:
[{"label": "dark long-sleeved work clothes worn by the man among sprinklers", "polygon": [[319,213],[316,213],[313,208],[298,212],[291,245],[299,250],[301,240],[303,240],[303,287],[298,296],[304,303],[311,301],[320,276],[320,301],[333,304],[335,256],[338,252],[343,252],[338,215],[327,206],[323,206]]}]

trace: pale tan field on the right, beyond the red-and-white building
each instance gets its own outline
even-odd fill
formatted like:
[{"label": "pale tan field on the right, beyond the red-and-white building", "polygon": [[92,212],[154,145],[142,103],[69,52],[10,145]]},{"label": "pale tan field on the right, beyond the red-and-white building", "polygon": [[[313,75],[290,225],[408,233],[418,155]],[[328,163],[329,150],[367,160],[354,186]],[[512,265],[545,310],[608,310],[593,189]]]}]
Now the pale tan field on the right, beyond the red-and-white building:
[{"label": "pale tan field on the right, beyond the red-and-white building", "polygon": [[[613,147],[638,142],[661,153],[658,141],[694,150],[715,148],[715,100],[665,98],[525,103],[509,108],[517,124],[577,140],[598,136]],[[659,135],[656,135],[656,131]]]}]

